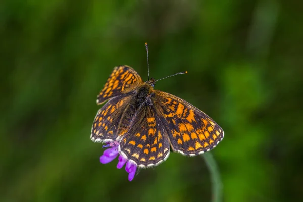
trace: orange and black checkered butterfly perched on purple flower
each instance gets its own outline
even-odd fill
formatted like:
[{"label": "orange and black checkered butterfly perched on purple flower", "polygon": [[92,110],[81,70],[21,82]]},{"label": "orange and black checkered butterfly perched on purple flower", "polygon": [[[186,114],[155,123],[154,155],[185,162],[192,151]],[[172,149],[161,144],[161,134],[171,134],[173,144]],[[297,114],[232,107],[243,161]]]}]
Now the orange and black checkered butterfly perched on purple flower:
[{"label": "orange and black checkered butterfly perched on purple flower", "polygon": [[129,66],[115,67],[97,96],[98,105],[107,103],[94,119],[91,140],[118,142],[119,154],[140,168],[159,165],[171,150],[196,156],[216,147],[222,128],[185,100],[155,90],[156,81],[144,82]]}]

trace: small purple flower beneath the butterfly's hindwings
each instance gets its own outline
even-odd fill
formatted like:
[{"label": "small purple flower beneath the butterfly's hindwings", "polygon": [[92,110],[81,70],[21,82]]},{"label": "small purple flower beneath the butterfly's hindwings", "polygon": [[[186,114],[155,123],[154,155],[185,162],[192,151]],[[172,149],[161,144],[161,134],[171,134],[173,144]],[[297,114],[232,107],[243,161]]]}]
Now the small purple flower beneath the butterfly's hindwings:
[{"label": "small purple flower beneath the butterfly's hindwings", "polygon": [[[118,142],[109,143],[109,144],[103,146],[104,148],[106,148],[106,147],[110,147],[110,148],[106,149],[103,152],[103,155],[100,157],[100,162],[102,164],[107,164],[107,163],[113,161],[119,154],[118,146],[119,146]],[[119,155],[118,160],[119,160],[119,162],[117,164],[117,168],[120,169],[126,164],[125,170],[126,170],[126,172],[128,172],[128,180],[132,181],[135,177],[137,166],[130,163],[127,159],[125,159],[121,155]]]}]

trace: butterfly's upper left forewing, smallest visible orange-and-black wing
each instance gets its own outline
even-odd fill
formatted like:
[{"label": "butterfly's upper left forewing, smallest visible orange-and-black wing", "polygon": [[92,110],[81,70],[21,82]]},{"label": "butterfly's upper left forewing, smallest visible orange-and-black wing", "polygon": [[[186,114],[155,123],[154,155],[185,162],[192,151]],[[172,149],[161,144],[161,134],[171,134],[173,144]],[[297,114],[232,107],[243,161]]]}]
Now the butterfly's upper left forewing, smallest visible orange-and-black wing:
[{"label": "butterfly's upper left forewing, smallest visible orange-and-black wing", "polygon": [[133,68],[126,65],[115,67],[104,88],[97,96],[97,104],[102,104],[112,97],[129,93],[142,83],[140,75]]}]

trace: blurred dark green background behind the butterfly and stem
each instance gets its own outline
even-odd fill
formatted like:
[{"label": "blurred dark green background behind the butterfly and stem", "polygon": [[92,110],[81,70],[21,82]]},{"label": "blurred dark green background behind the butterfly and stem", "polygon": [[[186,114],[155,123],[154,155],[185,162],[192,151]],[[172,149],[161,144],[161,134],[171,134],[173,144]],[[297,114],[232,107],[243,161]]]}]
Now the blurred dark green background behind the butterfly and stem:
[{"label": "blurred dark green background behind the butterfly and stem", "polygon": [[171,154],[132,182],[90,141],[117,65],[210,115],[224,201],[300,201],[303,4],[264,1],[0,3],[0,201],[211,201],[204,158]]}]

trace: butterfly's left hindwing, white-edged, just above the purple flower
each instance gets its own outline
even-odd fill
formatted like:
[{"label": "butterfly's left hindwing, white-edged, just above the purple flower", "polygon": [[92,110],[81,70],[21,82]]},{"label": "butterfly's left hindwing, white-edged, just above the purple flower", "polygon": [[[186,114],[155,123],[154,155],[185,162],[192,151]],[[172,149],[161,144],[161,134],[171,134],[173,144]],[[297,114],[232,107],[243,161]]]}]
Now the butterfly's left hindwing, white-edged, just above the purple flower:
[{"label": "butterfly's left hindwing, white-edged, just above the purple flower", "polygon": [[118,124],[131,99],[131,95],[113,97],[98,111],[91,129],[93,142],[112,142],[118,137]]}]

